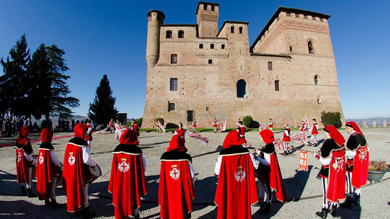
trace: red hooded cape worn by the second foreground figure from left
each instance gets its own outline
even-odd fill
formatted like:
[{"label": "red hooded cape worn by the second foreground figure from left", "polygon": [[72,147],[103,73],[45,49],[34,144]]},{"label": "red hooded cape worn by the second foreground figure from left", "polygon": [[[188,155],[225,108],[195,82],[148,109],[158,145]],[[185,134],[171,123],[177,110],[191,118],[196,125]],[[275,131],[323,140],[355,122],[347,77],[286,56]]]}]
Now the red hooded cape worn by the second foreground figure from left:
[{"label": "red hooded cape worn by the second foreground figure from left", "polygon": [[44,128],[40,132],[40,140],[42,141],[39,147],[37,171],[37,193],[39,200],[47,200],[50,198],[52,191],[52,177],[58,176],[60,169],[51,162],[50,151],[54,150],[52,146],[53,133],[49,129]]}]

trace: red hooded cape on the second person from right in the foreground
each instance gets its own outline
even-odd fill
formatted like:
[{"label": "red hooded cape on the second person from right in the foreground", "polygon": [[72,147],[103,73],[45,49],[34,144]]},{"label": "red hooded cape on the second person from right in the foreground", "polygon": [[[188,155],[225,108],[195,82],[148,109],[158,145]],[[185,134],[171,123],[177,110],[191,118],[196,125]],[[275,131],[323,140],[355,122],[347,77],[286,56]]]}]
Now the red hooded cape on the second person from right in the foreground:
[{"label": "red hooded cape on the second person from right in the foreground", "polygon": [[343,135],[332,125],[324,127],[338,148],[331,150],[331,164],[329,164],[328,190],[326,197],[329,201],[337,202],[345,199],[345,139]]}]

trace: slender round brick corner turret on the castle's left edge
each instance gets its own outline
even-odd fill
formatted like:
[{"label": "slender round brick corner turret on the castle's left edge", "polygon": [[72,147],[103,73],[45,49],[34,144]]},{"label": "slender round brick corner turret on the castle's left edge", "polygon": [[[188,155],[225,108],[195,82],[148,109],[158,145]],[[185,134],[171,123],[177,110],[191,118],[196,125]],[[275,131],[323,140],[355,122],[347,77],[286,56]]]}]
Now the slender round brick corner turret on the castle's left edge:
[{"label": "slender round brick corner turret on the castle's left edge", "polygon": [[164,23],[165,15],[161,11],[151,10],[147,13],[148,36],[146,44],[146,62],[155,67],[160,50],[160,25]]}]

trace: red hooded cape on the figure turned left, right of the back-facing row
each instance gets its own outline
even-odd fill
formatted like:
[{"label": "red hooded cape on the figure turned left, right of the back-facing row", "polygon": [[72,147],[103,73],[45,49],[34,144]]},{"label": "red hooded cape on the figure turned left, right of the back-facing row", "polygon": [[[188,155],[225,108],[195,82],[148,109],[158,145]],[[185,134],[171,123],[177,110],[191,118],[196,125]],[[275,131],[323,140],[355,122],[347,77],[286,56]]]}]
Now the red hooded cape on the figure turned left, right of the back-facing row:
[{"label": "red hooded cape on the figure turned left, right of the back-facing row", "polygon": [[277,200],[287,202],[287,192],[284,187],[283,176],[277,160],[275,146],[273,145],[273,132],[269,129],[265,129],[260,132],[260,135],[266,144],[262,151],[264,154],[270,156],[270,187],[275,191]]}]

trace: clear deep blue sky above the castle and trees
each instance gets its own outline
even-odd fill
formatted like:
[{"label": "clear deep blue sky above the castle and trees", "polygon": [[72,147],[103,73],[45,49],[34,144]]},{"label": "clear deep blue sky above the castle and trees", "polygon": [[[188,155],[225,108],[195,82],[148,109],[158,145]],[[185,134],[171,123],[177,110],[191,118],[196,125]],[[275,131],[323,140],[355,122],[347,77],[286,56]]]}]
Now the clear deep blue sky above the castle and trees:
[{"label": "clear deep blue sky above the castle and trees", "polygon": [[[340,98],[346,118],[390,116],[388,1],[219,0],[224,20],[249,21],[250,45],[279,5],[330,14]],[[69,86],[86,115],[103,74],[116,107],[141,117],[146,86],[146,13],[165,13],[164,23],[195,23],[196,0],[20,1],[2,0],[0,57],[25,33],[32,52],[40,43],[66,52]]]}]

